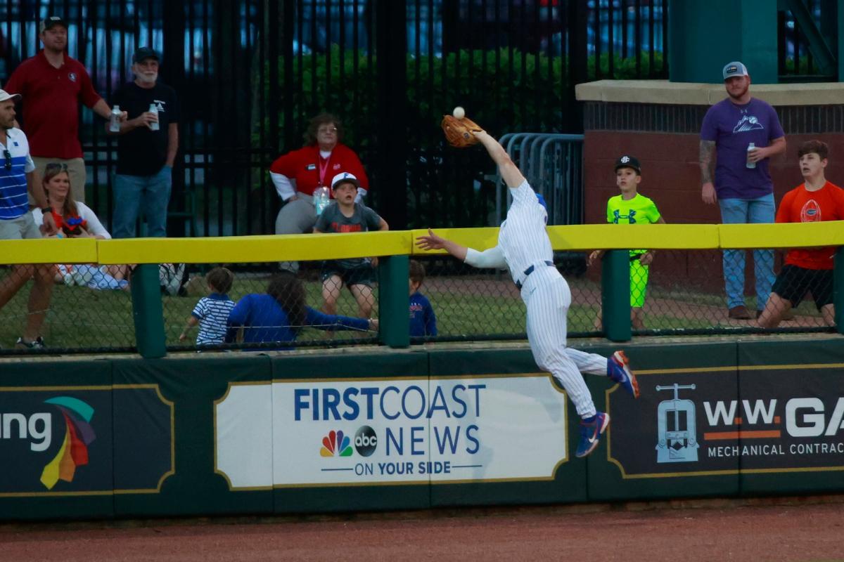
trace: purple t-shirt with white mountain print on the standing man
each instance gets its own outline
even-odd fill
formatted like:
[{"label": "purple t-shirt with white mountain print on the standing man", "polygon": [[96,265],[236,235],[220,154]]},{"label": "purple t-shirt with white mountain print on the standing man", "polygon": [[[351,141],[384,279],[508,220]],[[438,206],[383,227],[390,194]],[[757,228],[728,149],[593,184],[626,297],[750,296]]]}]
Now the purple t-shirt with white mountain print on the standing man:
[{"label": "purple t-shirt with white mountain print on the standing man", "polygon": [[750,142],[767,147],[782,136],[785,133],[776,111],[761,99],[736,105],[727,98],[712,105],[703,118],[701,140],[715,141],[718,199],[758,199],[773,193],[768,158],[748,168],[747,147]]}]

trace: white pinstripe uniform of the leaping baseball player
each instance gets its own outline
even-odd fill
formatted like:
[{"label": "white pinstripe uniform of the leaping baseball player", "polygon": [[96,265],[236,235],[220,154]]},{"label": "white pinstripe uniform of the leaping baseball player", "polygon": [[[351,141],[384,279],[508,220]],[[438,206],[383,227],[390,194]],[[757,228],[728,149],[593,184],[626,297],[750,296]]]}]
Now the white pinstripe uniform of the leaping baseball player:
[{"label": "white pinstripe uniform of the leaping baseball player", "polygon": [[571,291],[553,267],[554,250],[545,231],[548,213],[527,180],[510,192],[513,202],[501,223],[498,245],[484,252],[468,249],[466,263],[510,269],[513,281],[522,286],[533,359],[540,369],[560,381],[578,415],[595,415],[595,404],[581,372],[606,376],[607,359],[565,347]]}]

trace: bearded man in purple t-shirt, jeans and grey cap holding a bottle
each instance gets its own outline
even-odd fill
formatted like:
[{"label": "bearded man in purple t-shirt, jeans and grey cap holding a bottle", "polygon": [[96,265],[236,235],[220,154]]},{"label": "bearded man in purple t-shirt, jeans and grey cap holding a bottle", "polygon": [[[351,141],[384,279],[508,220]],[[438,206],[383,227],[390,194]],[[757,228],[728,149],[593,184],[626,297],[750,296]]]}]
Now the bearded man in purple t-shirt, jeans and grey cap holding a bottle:
[{"label": "bearded man in purple t-shirt, jeans and grey cap holding a bottle", "polygon": [[[750,97],[750,76],[744,64],[730,62],[723,76],[728,98],[709,108],[701,126],[703,202],[718,203],[724,224],[774,222],[768,159],[786,151],[785,133],[774,108]],[[758,318],[774,283],[774,253],[757,249],[753,257]],[[744,250],[724,250],[723,264],[729,318],[749,319],[744,306]]]}]

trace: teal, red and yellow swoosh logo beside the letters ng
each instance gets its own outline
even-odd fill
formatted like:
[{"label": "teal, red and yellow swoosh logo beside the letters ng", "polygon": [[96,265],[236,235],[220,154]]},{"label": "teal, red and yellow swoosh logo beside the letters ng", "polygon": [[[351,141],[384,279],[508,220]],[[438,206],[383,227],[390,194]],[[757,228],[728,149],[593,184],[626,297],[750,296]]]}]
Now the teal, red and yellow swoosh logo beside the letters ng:
[{"label": "teal, red and yellow swoosh logo beside the letters ng", "polygon": [[59,480],[73,482],[76,468],[88,464],[88,446],[97,436],[90,425],[94,409],[82,400],[57,396],[44,403],[56,406],[64,417],[65,426],[62,447],[41,472],[41,484],[52,490]]}]

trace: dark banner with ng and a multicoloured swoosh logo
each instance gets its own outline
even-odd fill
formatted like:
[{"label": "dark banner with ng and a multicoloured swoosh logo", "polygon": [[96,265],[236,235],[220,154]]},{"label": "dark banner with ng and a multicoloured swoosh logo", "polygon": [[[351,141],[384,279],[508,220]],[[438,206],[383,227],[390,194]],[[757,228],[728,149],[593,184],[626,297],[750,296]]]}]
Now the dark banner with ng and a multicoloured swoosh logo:
[{"label": "dark banner with ng and a multicoloured swoosh logo", "polygon": [[0,388],[0,496],[158,490],[172,468],[170,405],[155,385]]}]

